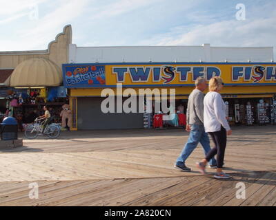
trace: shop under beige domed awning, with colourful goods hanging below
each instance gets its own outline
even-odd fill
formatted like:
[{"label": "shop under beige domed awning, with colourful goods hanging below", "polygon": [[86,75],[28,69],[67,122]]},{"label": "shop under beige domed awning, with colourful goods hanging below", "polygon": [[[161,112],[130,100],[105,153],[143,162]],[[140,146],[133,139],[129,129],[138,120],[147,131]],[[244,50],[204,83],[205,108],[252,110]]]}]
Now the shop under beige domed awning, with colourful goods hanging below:
[{"label": "shop under beige domed awning, with colourful goods hanging below", "polygon": [[10,76],[9,115],[19,122],[31,123],[43,115],[43,106],[47,105],[54,122],[61,123],[62,105],[69,103],[67,90],[61,83],[61,69],[52,61],[46,58],[23,61]]}]

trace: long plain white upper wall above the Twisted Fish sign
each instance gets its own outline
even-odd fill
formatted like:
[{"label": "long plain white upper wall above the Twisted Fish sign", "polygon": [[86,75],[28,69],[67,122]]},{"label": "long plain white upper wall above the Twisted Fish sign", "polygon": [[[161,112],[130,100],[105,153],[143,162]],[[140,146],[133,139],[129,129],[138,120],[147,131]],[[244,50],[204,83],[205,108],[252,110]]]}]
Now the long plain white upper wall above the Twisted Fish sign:
[{"label": "long plain white upper wall above the Twisted Fish sign", "polygon": [[69,63],[273,62],[273,47],[69,45]]}]

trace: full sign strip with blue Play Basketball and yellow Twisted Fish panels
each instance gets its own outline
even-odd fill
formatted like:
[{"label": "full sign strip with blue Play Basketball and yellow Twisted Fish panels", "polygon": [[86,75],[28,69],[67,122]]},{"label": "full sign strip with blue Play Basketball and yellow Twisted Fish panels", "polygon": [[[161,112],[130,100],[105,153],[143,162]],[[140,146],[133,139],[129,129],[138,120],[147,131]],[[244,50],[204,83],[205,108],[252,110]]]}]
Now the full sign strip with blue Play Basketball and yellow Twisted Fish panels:
[{"label": "full sign strip with blue Play Basketball and yellow Twisted Fish panels", "polygon": [[221,76],[226,85],[276,85],[275,63],[64,64],[65,87],[191,87],[198,77]]}]

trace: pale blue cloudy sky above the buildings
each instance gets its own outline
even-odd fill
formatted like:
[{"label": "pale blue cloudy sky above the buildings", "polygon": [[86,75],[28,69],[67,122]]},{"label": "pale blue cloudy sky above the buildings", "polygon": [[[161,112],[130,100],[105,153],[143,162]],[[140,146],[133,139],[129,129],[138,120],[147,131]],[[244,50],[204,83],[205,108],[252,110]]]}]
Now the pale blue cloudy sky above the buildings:
[{"label": "pale blue cloudy sky above the buildings", "polygon": [[79,47],[210,43],[276,54],[276,0],[0,0],[0,51],[46,50],[67,24]]}]

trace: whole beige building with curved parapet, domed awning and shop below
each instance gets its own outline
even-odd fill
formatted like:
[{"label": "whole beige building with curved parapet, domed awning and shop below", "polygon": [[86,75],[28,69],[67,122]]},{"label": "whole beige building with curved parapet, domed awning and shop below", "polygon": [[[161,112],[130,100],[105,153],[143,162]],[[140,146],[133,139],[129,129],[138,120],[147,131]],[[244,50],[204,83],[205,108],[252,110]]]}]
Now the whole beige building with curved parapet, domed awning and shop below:
[{"label": "whole beige building with curved parapet, domed awning and shop below", "polygon": [[61,66],[68,63],[71,43],[72,28],[66,25],[46,50],[0,52],[1,119],[9,111],[23,123],[32,122],[31,115],[41,115],[47,104],[60,121],[61,106],[69,102]]}]

